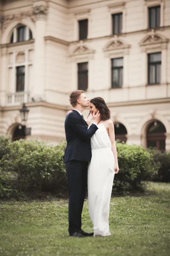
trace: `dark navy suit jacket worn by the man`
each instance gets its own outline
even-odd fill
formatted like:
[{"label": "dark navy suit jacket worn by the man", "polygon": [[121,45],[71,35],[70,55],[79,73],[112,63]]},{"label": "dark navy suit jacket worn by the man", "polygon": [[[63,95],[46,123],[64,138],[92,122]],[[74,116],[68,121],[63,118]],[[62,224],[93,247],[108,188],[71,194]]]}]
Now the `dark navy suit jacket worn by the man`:
[{"label": "dark navy suit jacket worn by the man", "polygon": [[64,162],[71,160],[91,160],[91,136],[98,127],[92,124],[88,129],[83,117],[75,110],[68,113],[65,118],[65,136],[67,146],[65,149]]}]

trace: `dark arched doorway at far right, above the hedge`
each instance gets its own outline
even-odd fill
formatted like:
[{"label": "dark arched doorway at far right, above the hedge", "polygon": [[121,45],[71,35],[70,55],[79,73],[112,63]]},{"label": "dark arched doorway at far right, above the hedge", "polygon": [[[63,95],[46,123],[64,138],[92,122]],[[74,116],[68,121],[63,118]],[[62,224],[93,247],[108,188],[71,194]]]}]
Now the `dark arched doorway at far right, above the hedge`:
[{"label": "dark arched doorway at far right, above the hedge", "polygon": [[158,150],[165,151],[166,128],[164,125],[155,120],[147,128],[147,148],[154,147]]}]

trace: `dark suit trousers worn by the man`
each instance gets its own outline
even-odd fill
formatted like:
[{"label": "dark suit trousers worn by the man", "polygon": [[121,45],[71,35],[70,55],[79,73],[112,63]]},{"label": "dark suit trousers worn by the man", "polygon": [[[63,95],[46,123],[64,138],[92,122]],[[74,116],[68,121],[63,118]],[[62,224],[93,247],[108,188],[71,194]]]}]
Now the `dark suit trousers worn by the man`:
[{"label": "dark suit trousers worn by the man", "polygon": [[71,160],[65,163],[68,176],[69,202],[68,223],[69,234],[81,230],[82,208],[87,189],[88,162]]}]

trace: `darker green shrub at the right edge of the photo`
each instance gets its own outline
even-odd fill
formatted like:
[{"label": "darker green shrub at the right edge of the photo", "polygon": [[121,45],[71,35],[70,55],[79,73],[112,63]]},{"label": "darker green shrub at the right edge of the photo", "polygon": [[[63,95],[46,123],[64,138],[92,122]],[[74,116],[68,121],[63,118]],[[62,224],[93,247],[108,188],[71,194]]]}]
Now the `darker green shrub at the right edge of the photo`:
[{"label": "darker green shrub at the right edge of the photo", "polygon": [[149,148],[148,151],[153,157],[155,165],[159,167],[158,172],[154,175],[154,181],[170,182],[170,151],[161,153],[155,148]]}]

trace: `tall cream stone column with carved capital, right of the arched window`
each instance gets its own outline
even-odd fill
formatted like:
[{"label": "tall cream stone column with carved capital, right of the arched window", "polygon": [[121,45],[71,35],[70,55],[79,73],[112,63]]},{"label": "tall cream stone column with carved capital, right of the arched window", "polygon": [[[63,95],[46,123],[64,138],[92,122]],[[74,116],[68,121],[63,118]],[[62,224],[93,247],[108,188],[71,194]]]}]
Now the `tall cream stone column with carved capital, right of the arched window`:
[{"label": "tall cream stone column with carved capital, right of the arched window", "polygon": [[47,7],[34,6],[35,44],[34,44],[34,99],[45,99],[45,24]]}]

